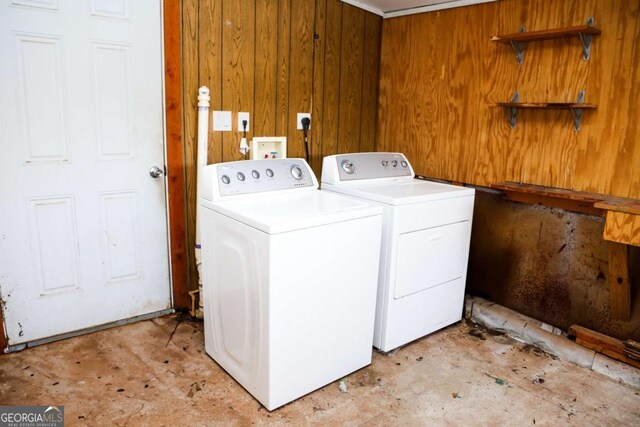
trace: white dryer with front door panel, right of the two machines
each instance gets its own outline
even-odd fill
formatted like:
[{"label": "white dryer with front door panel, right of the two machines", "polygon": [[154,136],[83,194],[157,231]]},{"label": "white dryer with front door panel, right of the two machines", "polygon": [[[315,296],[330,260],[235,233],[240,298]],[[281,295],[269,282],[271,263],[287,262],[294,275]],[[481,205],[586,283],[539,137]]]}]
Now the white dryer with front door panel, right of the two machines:
[{"label": "white dryer with front door panel, right of the two machines", "polygon": [[400,153],[325,157],[322,189],[384,208],[376,348],[393,350],[462,318],[474,189],[414,179]]}]

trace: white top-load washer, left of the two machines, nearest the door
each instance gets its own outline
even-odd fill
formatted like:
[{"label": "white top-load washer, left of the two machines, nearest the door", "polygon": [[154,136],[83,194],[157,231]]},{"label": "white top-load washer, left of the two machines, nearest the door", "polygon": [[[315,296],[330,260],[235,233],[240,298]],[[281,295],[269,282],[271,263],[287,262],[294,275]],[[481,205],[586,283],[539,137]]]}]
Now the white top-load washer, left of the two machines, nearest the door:
[{"label": "white top-load washer, left of the two machines, nearest the door", "polygon": [[371,363],[382,209],[302,159],[204,168],[207,353],[273,410]]}]

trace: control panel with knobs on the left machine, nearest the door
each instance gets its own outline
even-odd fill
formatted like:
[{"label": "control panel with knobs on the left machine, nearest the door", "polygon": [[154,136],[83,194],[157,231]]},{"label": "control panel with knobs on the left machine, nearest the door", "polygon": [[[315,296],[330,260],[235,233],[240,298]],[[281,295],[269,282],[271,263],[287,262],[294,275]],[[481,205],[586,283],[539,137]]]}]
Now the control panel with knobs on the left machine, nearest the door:
[{"label": "control panel with knobs on the left machine, nearest the door", "polygon": [[311,168],[302,159],[244,160],[214,166],[221,196],[316,186]]}]

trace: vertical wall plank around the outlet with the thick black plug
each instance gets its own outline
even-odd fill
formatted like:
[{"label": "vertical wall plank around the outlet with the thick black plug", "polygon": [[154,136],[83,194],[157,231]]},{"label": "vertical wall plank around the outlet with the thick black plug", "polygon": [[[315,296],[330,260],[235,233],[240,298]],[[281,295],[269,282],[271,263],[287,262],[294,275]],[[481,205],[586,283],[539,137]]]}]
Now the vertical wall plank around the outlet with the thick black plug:
[{"label": "vertical wall plank around the outlet with the thick black plug", "polygon": [[[297,113],[311,112],[313,76],[314,0],[291,3],[291,44],[287,150],[291,157],[305,157],[304,138],[297,129]],[[309,147],[311,151],[311,147]],[[314,153],[309,153],[311,158]]]}]

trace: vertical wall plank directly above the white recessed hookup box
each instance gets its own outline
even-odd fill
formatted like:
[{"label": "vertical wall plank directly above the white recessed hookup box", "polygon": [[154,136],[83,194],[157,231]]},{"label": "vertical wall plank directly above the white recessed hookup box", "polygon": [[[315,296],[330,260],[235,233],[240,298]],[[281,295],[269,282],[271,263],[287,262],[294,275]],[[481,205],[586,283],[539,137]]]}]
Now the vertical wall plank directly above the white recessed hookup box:
[{"label": "vertical wall plank directly above the white recessed hookup box", "polygon": [[274,136],[276,132],[277,24],[278,1],[256,0],[255,100],[252,118],[255,136]]}]

